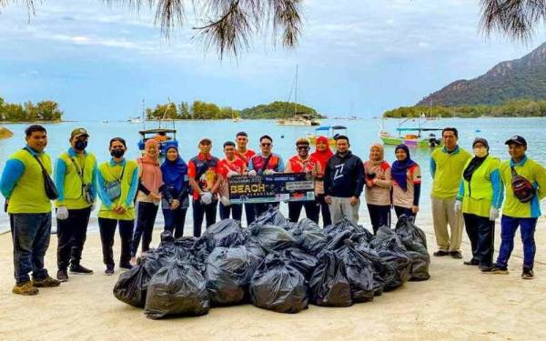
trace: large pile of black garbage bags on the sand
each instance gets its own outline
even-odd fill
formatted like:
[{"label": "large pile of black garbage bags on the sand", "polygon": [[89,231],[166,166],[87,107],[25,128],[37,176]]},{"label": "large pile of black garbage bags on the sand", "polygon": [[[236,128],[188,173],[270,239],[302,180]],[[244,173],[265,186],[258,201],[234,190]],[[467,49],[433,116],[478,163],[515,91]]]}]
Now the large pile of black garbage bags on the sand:
[{"label": "large pile of black garbage bags on the sand", "polygon": [[412,217],[373,236],[346,219],[322,229],[270,209],[248,228],[226,219],[199,238],[163,232],[159,246],[119,276],[114,296],[152,319],[248,302],[298,313],[309,303],[370,302],[407,281],[429,279],[429,266],[426,236]]}]

